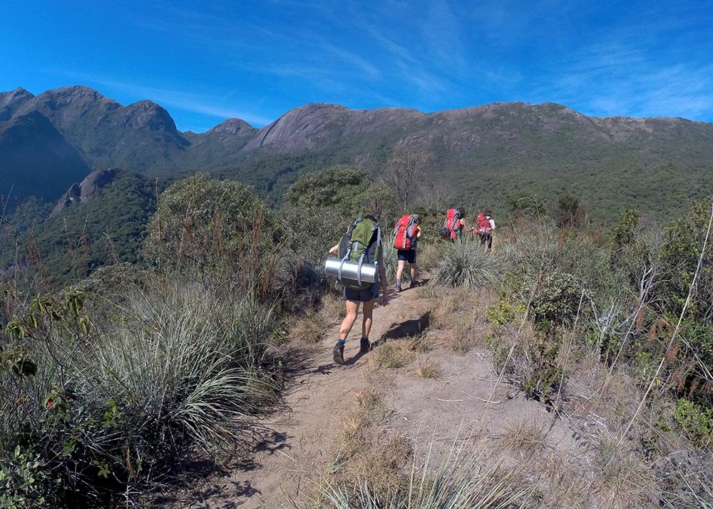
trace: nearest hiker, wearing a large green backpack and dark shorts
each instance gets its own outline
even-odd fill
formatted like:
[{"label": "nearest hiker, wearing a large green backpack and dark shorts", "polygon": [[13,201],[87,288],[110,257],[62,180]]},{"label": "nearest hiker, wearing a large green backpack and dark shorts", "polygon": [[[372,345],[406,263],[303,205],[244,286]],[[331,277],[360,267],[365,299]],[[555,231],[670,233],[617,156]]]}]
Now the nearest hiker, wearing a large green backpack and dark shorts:
[{"label": "nearest hiker, wearing a large green backpack and dark shorts", "polygon": [[341,327],[339,327],[339,340],[332,349],[334,362],[344,364],[344,344],[347,336],[352,331],[356,315],[359,313],[359,303],[364,304],[361,308],[363,321],[361,322],[361,341],[359,342],[359,352],[366,354],[371,348],[369,343],[369,331],[371,331],[371,321],[374,312],[376,297],[379,297],[379,284],[381,285],[381,304],[386,306],[389,302],[389,295],[386,292],[386,269],[384,267],[384,257],[381,252],[381,227],[373,215],[359,217],[353,225],[349,227],[347,233],[342,237],[342,241],[329,250],[331,255],[338,255],[342,259],[365,264],[376,264],[376,275],[373,283],[348,282],[344,284],[344,301],[347,306],[347,317],[344,317]]}]

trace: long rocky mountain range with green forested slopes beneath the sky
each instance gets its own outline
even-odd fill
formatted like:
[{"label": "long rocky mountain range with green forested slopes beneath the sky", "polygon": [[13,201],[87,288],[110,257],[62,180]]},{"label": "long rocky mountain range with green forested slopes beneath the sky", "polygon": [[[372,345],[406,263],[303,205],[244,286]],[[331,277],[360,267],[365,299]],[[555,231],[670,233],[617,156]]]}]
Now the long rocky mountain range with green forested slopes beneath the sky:
[{"label": "long rocky mountain range with green forested slopes beneath the sky", "polygon": [[[151,101],[128,106],[83,86],[0,93],[0,195],[56,201],[99,168],[164,181],[205,170],[279,196],[304,172],[356,164],[379,175],[399,144],[431,154],[429,180],[454,202],[505,207],[519,195],[583,198],[595,217],[654,215],[712,190],[713,124],[595,118],[555,103],[421,113],[308,104],[264,128],[231,118],[180,132]],[[603,211],[603,212],[597,212]]]}]

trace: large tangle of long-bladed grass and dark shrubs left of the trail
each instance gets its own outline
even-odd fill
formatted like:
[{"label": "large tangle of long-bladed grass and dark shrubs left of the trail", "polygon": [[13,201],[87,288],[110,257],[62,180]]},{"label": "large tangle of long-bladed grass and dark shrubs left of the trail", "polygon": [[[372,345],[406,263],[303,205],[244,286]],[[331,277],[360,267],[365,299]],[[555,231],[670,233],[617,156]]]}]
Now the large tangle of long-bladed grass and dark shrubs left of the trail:
[{"label": "large tangle of long-bladed grass and dark shrubs left of the trail", "polygon": [[152,283],[95,309],[98,322],[76,292],[16,302],[0,337],[11,506],[104,505],[150,488],[196,448],[232,451],[275,401],[272,309],[197,282]]}]

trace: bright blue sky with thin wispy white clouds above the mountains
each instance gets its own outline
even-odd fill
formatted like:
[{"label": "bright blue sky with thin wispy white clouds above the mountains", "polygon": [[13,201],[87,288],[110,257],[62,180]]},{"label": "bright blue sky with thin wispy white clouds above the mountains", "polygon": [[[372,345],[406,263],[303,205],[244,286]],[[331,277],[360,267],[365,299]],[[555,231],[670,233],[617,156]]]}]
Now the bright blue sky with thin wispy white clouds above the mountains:
[{"label": "bright blue sky with thin wispy white clouds above the mountains", "polygon": [[1,0],[0,16],[0,91],[148,98],[181,130],[310,102],[713,121],[713,0]]}]

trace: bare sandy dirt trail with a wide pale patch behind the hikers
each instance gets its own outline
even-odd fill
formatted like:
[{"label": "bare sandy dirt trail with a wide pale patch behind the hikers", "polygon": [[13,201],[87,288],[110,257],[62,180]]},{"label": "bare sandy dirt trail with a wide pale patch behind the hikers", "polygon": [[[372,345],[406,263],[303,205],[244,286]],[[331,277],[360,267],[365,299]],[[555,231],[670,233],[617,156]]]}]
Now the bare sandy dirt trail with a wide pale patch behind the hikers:
[{"label": "bare sandy dirt trail with a wide pale patch behind the hikers", "polygon": [[[428,327],[429,306],[434,304],[416,299],[415,294],[409,290],[394,295],[388,306],[374,310],[372,341],[414,335]],[[429,351],[429,362],[440,366],[443,378],[419,379],[414,376],[414,366],[391,370],[368,366],[371,354],[358,354],[360,328],[361,317],[347,341],[345,366],[332,361],[339,324],[319,344],[298,349],[295,355],[301,358],[290,367],[287,381],[287,410],[265,422],[272,432],[255,446],[253,457],[230,475],[212,478],[209,485],[190,490],[191,503],[175,507],[302,507],[297,500],[304,503],[310,479],[332,458],[344,411],[354,399],[351,393],[365,386],[379,388],[391,411],[389,426],[414,444],[440,441],[441,437],[451,441],[458,430],[463,436],[495,438],[503,431],[503,423],[523,418],[551,421],[541,415],[545,412],[537,403],[508,400],[510,389],[505,384],[496,386],[496,375],[484,351]],[[497,403],[486,408],[488,399]],[[550,433],[553,440],[573,447],[562,426],[550,426]]]}]

